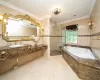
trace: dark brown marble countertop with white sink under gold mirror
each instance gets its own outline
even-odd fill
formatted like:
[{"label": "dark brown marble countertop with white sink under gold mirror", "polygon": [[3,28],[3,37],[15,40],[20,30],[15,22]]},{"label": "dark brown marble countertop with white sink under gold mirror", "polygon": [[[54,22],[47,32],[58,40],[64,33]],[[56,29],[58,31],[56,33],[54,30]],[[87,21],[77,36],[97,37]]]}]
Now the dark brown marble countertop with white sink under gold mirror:
[{"label": "dark brown marble countertop with white sink under gold mirror", "polygon": [[[47,45],[40,44],[37,46],[32,45],[12,45],[12,46],[2,46],[0,47],[0,59],[13,59],[23,55],[31,54],[39,50],[47,49]],[[4,54],[3,54],[4,53]]]}]

